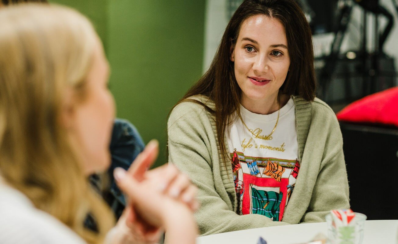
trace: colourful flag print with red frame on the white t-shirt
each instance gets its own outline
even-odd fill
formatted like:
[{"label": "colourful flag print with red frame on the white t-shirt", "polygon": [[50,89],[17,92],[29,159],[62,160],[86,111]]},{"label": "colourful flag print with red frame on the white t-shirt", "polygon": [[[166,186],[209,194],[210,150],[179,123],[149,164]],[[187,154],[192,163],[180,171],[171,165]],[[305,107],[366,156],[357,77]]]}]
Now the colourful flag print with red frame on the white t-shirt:
[{"label": "colourful flag print with red frame on the white t-shirt", "polygon": [[300,169],[296,160],[231,153],[240,214],[261,214],[281,221]]}]

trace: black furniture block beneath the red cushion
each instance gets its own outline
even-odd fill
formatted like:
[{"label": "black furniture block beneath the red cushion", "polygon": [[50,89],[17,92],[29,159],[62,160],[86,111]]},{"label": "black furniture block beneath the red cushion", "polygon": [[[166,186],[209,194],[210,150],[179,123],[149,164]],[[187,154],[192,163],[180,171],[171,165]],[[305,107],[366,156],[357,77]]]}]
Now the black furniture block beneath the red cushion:
[{"label": "black furniture block beneath the red cushion", "polygon": [[351,209],[398,219],[398,128],[340,122]]}]

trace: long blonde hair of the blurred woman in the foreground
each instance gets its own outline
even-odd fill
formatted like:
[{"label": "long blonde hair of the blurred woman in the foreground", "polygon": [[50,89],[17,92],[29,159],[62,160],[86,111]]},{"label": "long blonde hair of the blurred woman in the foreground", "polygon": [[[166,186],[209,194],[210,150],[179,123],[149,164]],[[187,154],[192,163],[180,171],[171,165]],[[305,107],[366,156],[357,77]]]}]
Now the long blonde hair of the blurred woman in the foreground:
[{"label": "long blonde hair of the blurred woman in the foreground", "polygon": [[[92,191],[60,111],[68,90],[83,99],[98,36],[78,12],[47,4],[0,11],[0,172],[6,183],[89,243],[114,219]],[[84,228],[90,214],[98,232]]]}]

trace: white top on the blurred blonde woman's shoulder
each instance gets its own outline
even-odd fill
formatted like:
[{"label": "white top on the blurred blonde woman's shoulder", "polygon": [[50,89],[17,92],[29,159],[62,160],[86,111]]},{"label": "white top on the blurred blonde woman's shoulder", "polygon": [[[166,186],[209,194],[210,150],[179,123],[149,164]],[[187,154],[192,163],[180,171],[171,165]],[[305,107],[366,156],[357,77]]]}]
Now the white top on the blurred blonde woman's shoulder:
[{"label": "white top on the blurred blonde woman's shoulder", "polygon": [[50,214],[36,209],[20,191],[0,178],[1,244],[86,244],[75,232]]}]

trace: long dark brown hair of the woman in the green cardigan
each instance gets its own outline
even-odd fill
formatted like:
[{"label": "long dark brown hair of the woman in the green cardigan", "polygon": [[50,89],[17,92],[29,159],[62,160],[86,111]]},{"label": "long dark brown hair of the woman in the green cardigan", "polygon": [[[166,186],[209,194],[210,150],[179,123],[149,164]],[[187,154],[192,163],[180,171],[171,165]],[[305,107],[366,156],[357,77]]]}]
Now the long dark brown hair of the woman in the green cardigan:
[{"label": "long dark brown hair of the woman in the green cardigan", "polygon": [[[291,63],[280,91],[288,95],[302,96],[306,100],[313,100],[315,97],[312,36],[300,6],[294,0],[244,0],[229,21],[209,70],[177,103],[184,101],[199,103],[215,116],[217,137],[224,159],[227,158],[225,128],[232,122],[231,115],[234,112],[240,114],[241,89],[235,79],[230,50],[236,43],[242,23],[258,14],[276,18],[285,27]],[[215,109],[189,99],[199,94],[213,100]]]}]

